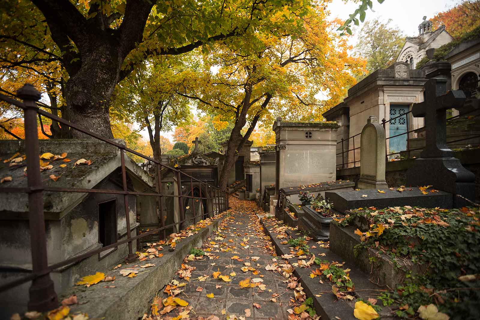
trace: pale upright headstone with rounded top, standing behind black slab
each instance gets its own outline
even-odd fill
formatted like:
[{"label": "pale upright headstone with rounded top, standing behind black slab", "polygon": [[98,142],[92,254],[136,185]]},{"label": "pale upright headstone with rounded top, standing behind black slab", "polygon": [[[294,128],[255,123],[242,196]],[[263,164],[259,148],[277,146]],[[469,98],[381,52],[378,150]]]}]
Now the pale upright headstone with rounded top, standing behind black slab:
[{"label": "pale upright headstone with rounded top, standing behind black slab", "polygon": [[375,116],[370,116],[361,131],[360,189],[388,189],[385,181],[385,130]]}]

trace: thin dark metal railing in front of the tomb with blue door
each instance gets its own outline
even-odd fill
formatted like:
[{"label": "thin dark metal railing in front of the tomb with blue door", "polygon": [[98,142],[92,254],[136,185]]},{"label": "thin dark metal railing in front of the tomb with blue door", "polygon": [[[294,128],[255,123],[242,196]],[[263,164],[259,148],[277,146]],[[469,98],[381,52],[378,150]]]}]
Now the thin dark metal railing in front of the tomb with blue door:
[{"label": "thin dark metal railing in front of the tomb with blue door", "polygon": [[[406,118],[406,125],[407,125],[407,128],[409,127],[408,126],[408,114],[410,114],[412,111],[407,111],[405,113],[402,113],[398,116],[396,116],[395,118],[390,118],[388,120],[386,120],[385,118],[382,119],[382,126],[384,127],[384,130],[385,130],[385,127],[386,127],[386,124],[389,123],[390,121],[392,120],[395,120],[397,118],[400,118],[400,117],[403,117],[405,116]],[[459,115],[456,115],[454,117],[451,117],[451,118],[448,118],[447,119],[447,125],[452,125],[453,123],[455,123],[458,119],[460,118],[463,118],[463,117],[467,117],[468,115],[470,114],[474,114],[474,113],[477,113],[471,117],[469,117],[468,119],[471,120],[471,119],[475,119],[477,117],[479,117],[480,115],[478,114],[479,113],[479,110],[472,110],[472,111],[469,111],[469,112],[466,112],[466,113],[462,113],[462,114],[459,114]],[[418,147],[418,148],[410,148],[410,140],[412,138],[410,138],[410,133],[412,132],[418,132],[419,130],[422,130],[422,129],[425,129],[425,126],[423,127],[420,127],[420,128],[417,128],[417,129],[412,129],[412,130],[407,130],[405,132],[402,132],[402,133],[399,133],[399,134],[396,134],[396,135],[393,135],[393,136],[390,136],[390,137],[386,137],[385,138],[385,144],[387,143],[387,141],[389,139],[392,139],[392,138],[396,138],[396,137],[400,137],[400,136],[403,136],[403,135],[407,135],[406,137],[406,140],[407,140],[407,148],[406,150],[402,150],[402,151],[399,151],[399,152],[393,152],[393,153],[388,153],[388,150],[389,148],[385,148],[385,155],[386,155],[386,161],[388,162],[389,161],[389,156],[391,155],[396,155],[396,154],[407,154],[407,158],[410,158],[410,154],[411,152],[413,151],[417,151],[417,150],[423,150],[424,147]],[[355,147],[355,137],[361,135],[361,132],[360,133],[357,133],[351,137],[348,137],[348,139],[341,139],[339,142],[337,142],[336,144],[341,144],[342,146],[342,151],[337,153],[336,156],[340,155],[341,154],[341,157],[342,157],[342,163],[338,163],[336,166],[337,167],[341,167],[342,169],[345,168],[346,166],[348,167],[349,164],[354,164],[353,167],[357,167],[357,166],[360,166],[360,156],[356,155],[355,154],[355,150],[357,149],[360,149],[360,146],[357,146]],[[454,143],[454,142],[462,142],[462,141],[468,141],[468,140],[471,140],[471,139],[475,139],[475,138],[479,138],[480,135],[474,135],[474,136],[469,136],[467,138],[462,138],[462,139],[457,139],[457,140],[450,140],[450,141],[447,141],[446,143]],[[352,142],[353,142],[353,148],[352,149],[348,149],[349,145],[350,145],[350,139],[352,139]],[[348,150],[345,150],[345,144],[348,143],[348,147],[347,149]],[[348,156],[348,153],[350,151],[353,151],[353,161],[349,161],[347,160],[347,162],[345,162],[345,154],[347,154]]]}]

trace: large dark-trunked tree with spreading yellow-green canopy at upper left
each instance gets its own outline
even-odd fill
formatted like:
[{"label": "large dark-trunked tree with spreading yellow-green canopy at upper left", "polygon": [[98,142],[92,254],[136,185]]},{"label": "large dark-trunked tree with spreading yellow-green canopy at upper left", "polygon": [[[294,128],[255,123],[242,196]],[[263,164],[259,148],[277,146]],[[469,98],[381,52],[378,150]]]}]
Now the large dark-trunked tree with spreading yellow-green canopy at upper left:
[{"label": "large dark-trunked tree with spreading yellow-green canopy at upper left", "polygon": [[[279,11],[301,5],[288,0],[4,0],[0,9],[9,13],[2,16],[2,45],[32,54],[2,59],[24,68],[60,62],[66,71],[62,118],[111,138],[114,88],[145,59],[266,30]],[[84,137],[77,131],[71,135]]]}]

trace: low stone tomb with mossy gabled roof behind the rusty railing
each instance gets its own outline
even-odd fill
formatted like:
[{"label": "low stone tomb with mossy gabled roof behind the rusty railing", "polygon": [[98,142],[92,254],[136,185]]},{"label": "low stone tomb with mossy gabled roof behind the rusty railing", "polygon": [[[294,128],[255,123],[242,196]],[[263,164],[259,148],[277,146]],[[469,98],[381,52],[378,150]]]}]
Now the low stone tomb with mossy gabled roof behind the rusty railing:
[{"label": "low stone tomb with mossy gabled roof behind the rusty railing", "polygon": [[[114,140],[125,145],[122,140]],[[44,186],[54,188],[123,190],[119,149],[98,140],[40,140],[40,154],[67,153],[71,162],[60,167],[62,160],[50,161],[53,168],[40,173]],[[24,141],[0,142],[0,158],[8,159],[15,153],[25,154]],[[75,166],[74,159],[92,160],[89,166]],[[47,161],[47,160],[45,160]],[[127,189],[155,192],[154,179],[133,160],[125,156]],[[57,181],[49,178],[54,174]],[[9,168],[0,163],[0,177],[11,176],[12,181],[2,187],[25,188],[24,166]],[[30,232],[28,224],[28,194],[0,193],[0,284],[23,277],[32,271]],[[12,200],[14,199],[14,200]],[[130,225],[126,224],[124,196],[122,194],[44,192],[44,213],[47,235],[48,263],[54,264],[87,251],[108,246],[127,237],[137,235],[139,223],[155,217],[156,197],[127,195]],[[132,243],[133,253],[137,250]],[[81,275],[94,274],[117,264],[128,255],[127,244],[85,258],[50,273],[55,291],[60,295],[70,288]],[[0,293],[0,315],[26,311],[30,283],[21,284]],[[2,317],[0,317],[2,318]],[[3,318],[2,318],[3,319]]]}]

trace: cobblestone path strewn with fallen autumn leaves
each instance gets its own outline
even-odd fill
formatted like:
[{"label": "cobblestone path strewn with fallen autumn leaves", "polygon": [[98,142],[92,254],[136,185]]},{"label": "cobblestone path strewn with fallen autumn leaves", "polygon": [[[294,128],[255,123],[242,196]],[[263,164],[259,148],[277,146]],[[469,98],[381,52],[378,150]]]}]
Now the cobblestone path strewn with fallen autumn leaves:
[{"label": "cobblestone path strewn with fallen autumn leaves", "polygon": [[[219,229],[204,242],[205,255],[185,257],[175,278],[153,299],[145,320],[300,319],[290,313],[305,296],[296,278],[278,267],[281,258],[256,215],[264,212],[253,201],[234,197],[230,207]],[[272,266],[273,271],[265,269]]]}]

